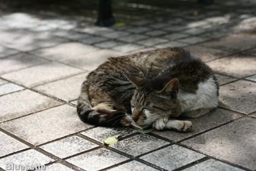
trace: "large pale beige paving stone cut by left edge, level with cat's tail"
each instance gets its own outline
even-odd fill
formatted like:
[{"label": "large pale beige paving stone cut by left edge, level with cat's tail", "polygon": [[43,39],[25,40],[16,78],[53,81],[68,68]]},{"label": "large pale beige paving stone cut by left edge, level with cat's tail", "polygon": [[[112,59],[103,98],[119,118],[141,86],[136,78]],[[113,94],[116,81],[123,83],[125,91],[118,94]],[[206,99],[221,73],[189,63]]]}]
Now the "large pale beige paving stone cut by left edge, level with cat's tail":
[{"label": "large pale beige paving stone cut by left edge, level with cat's tail", "polygon": [[[22,99],[22,100],[21,100]],[[40,110],[58,106],[61,102],[30,90],[12,93],[0,97],[0,122],[18,118]]]}]

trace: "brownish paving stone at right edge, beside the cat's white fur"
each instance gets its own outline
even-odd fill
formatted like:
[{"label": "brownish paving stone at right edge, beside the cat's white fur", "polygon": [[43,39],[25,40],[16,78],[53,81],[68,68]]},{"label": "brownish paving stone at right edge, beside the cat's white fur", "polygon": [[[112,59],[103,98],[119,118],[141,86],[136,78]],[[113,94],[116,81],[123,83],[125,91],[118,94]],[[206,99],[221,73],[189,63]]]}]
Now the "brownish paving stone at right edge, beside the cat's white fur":
[{"label": "brownish paving stone at right edge, beside the cat's white fur", "polygon": [[256,111],[256,82],[235,81],[220,87],[220,106],[244,114]]}]

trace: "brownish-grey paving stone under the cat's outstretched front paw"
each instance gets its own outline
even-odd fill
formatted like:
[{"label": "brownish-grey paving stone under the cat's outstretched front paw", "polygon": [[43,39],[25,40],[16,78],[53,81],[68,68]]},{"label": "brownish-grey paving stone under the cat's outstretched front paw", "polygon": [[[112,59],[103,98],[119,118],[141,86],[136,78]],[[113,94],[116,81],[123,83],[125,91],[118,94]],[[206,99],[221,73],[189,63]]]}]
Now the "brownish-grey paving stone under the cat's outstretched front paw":
[{"label": "brownish-grey paving stone under the cat's outstretched front paw", "polygon": [[[191,132],[181,133],[174,130],[155,130],[152,133],[177,142],[240,117],[237,113],[230,112],[229,110],[215,109],[199,118],[187,118],[193,124]],[[184,118],[181,120],[184,120]]]}]

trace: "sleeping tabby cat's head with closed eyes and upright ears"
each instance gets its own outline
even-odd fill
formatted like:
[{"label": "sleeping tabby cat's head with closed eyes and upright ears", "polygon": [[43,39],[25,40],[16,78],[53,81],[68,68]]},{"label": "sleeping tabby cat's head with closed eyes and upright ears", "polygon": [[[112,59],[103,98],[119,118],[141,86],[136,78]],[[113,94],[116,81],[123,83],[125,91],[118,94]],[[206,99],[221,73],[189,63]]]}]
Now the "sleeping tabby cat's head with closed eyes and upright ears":
[{"label": "sleeping tabby cat's head with closed eyes and upright ears", "polygon": [[148,127],[155,120],[177,116],[178,79],[158,76],[153,79],[127,76],[136,86],[132,97],[132,119],[141,127]]}]

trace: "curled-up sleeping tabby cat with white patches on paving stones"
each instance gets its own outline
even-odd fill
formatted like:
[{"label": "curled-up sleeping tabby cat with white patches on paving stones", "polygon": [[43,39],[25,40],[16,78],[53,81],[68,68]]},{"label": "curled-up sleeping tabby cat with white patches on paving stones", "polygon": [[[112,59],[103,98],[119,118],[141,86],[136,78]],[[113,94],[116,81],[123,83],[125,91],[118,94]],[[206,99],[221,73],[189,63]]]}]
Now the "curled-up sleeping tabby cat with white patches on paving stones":
[{"label": "curled-up sleeping tabby cat with white patches on paving stones", "polygon": [[[110,58],[83,82],[79,118],[96,126],[138,126],[187,132],[190,121],[218,106],[212,70],[187,50],[173,47]],[[131,113],[132,115],[130,115]]]}]

